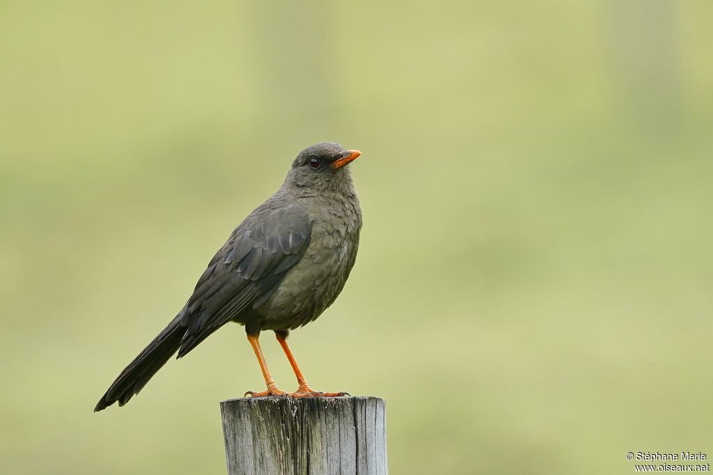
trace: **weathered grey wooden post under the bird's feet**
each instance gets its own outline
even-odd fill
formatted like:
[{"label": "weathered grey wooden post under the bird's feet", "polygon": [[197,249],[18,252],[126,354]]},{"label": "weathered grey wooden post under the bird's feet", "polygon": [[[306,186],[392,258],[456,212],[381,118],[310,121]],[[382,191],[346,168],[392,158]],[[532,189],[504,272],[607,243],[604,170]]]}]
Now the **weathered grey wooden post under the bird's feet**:
[{"label": "weathered grey wooden post under the bird's feet", "polygon": [[386,475],[379,397],[250,397],[220,403],[229,475]]}]

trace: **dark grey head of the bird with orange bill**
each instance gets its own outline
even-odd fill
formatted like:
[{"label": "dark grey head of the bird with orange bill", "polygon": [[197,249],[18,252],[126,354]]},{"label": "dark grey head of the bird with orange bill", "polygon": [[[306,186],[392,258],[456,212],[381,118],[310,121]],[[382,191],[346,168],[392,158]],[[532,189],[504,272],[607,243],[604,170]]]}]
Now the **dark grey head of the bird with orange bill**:
[{"label": "dark grey head of the bird with orange bill", "polygon": [[347,165],[359,158],[359,150],[344,150],[342,145],[324,142],[299,152],[292,162],[287,181],[297,187],[339,191],[352,186]]}]

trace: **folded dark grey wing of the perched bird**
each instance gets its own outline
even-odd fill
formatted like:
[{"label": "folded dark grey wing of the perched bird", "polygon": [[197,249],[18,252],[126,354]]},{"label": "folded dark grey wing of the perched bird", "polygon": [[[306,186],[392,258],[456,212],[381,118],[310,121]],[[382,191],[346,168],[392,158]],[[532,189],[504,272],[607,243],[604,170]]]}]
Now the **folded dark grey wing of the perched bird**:
[{"label": "folded dark grey wing of the perched bird", "polygon": [[178,357],[240,313],[265,303],[289,268],[302,259],[312,234],[299,204],[264,204],[237,226],[198,280],[182,325],[188,327]]}]

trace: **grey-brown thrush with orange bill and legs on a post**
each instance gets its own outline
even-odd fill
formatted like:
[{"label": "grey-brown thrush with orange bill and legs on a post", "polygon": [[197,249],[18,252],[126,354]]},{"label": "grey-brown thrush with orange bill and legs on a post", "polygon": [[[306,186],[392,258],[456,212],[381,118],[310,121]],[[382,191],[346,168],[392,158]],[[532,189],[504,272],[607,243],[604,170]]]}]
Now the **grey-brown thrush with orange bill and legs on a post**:
[{"label": "grey-brown thrush with orange bill and legs on a post", "polygon": [[[185,306],[118,375],[94,411],[123,406],[170,357],[184,357],[229,322],[245,327],[267,386],[245,396],[347,395],[313,390],[287,337],[332,305],[352,271],[362,216],[347,165],[360,155],[334,142],[299,152],[282,187],[232,231]],[[296,391],[275,384],[260,348],[262,330],[275,332],[297,377]]]}]

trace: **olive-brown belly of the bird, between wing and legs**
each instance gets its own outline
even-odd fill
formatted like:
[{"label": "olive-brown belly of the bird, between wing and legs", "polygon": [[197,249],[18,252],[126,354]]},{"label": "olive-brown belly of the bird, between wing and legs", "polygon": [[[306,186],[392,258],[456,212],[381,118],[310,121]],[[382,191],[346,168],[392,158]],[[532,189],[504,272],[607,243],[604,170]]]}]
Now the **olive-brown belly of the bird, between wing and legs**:
[{"label": "olive-brown belly of the bird, between wing and legs", "polygon": [[[317,318],[344,288],[356,254],[356,239],[334,234],[312,236],[299,263],[256,309],[264,330],[287,330]],[[316,239],[315,239],[316,238]]]}]

